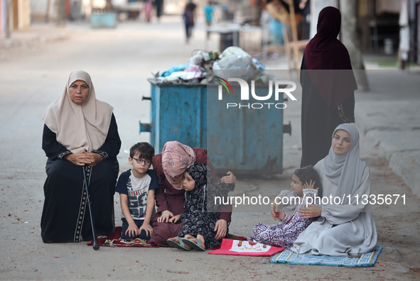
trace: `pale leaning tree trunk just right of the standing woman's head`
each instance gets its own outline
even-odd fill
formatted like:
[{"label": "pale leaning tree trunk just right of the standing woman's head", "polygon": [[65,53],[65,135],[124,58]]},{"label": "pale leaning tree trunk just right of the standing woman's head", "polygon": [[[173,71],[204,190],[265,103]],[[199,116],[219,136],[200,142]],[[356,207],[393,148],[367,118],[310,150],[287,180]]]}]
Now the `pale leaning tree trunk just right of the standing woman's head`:
[{"label": "pale leaning tree trunk just right of the standing woman's head", "polygon": [[340,39],[350,54],[352,68],[355,70],[357,86],[362,91],[367,91],[369,90],[369,82],[367,81],[365,64],[360,48],[360,35],[357,33],[357,4],[357,0],[340,0]]}]

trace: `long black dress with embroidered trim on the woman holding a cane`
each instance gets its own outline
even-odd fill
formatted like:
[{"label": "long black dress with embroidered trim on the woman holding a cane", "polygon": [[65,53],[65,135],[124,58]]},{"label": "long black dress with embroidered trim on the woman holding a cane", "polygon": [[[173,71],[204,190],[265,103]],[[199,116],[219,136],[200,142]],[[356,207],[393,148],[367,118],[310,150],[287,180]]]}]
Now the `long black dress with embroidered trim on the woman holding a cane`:
[{"label": "long black dress with embroidered trim on the woman holding a cane", "polygon": [[[109,235],[114,226],[114,190],[119,172],[117,155],[120,148],[117,122],[112,114],[104,144],[98,150],[92,151],[104,156],[104,160],[95,167],[85,167],[97,236]],[[92,240],[83,167],[63,158],[71,153],[70,150],[58,143],[55,133],[46,125],[43,131],[43,150],[48,157],[45,167],[45,202],[41,217],[43,241],[64,243]]]}]

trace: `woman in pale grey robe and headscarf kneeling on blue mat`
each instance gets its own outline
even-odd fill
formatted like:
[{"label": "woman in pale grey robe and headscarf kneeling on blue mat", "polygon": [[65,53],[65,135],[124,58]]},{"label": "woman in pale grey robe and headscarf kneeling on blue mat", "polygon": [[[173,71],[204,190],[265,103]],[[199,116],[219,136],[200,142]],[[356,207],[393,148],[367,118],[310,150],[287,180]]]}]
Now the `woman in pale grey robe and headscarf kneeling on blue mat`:
[{"label": "woman in pale grey robe and headscarf kneeling on blue mat", "polygon": [[330,152],[314,168],[321,177],[324,203],[308,205],[301,216],[321,217],[298,236],[291,250],[348,256],[374,250],[375,221],[370,204],[362,200],[370,196],[370,169],[360,159],[359,132],[353,124],[335,128]]}]

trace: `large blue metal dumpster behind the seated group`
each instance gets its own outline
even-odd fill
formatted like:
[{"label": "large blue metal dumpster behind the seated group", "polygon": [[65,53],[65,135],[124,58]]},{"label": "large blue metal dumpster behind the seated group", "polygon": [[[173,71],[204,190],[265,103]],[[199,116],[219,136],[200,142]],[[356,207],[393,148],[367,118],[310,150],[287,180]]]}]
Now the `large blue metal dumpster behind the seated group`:
[{"label": "large blue metal dumpster behind the seated group", "polygon": [[[140,133],[151,133],[151,145],[161,152],[169,140],[192,148],[206,148],[217,171],[235,175],[271,175],[283,170],[283,110],[251,108],[226,110],[234,95],[217,99],[217,86],[151,83],[150,123],[140,122]],[[233,92],[240,92],[233,87]],[[283,97],[279,97],[283,101]],[[257,106],[256,106],[257,107]]]}]

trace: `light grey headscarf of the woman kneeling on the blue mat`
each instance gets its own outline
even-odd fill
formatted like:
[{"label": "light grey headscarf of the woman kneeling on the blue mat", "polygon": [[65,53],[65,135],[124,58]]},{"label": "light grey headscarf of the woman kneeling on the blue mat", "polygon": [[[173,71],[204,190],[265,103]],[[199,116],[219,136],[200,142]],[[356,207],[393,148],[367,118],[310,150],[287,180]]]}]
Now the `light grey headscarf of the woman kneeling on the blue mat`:
[{"label": "light grey headscarf of the woman kneeling on the blue mat", "polygon": [[[338,130],[344,130],[350,135],[350,149],[344,155],[335,154],[331,146],[330,152],[324,159],[325,176],[337,185],[335,196],[348,199],[348,194],[355,194],[362,182],[363,170],[366,163],[360,159],[359,131],[351,123],[343,123],[335,128],[334,134]],[[345,201],[345,200],[343,200]],[[348,200],[347,200],[348,201]],[[343,204],[345,204],[343,202]]]}]

